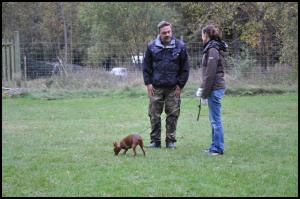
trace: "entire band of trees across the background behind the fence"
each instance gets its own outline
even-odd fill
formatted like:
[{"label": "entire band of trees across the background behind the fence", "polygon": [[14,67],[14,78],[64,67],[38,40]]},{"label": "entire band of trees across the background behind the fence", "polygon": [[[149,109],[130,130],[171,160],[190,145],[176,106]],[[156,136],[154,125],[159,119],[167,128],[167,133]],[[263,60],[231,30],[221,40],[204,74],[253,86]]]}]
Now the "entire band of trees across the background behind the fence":
[{"label": "entire band of trees across the background behind the fence", "polygon": [[19,31],[35,59],[94,66],[144,52],[161,20],[186,42],[199,42],[199,30],[215,24],[232,56],[247,48],[263,69],[278,62],[298,69],[297,2],[2,2],[2,38]]}]

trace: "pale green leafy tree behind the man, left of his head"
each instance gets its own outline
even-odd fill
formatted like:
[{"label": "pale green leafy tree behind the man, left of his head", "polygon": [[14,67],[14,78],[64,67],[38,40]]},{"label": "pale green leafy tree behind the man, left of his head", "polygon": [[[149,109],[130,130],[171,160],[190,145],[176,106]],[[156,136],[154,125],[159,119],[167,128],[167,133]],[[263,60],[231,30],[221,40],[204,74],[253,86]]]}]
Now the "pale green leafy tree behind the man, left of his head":
[{"label": "pale green leafy tree behind the man, left of his head", "polygon": [[[108,57],[117,56],[122,62],[144,52],[146,43],[157,34],[158,22],[175,16],[174,10],[165,5],[144,2],[85,4],[80,19],[90,28],[93,41],[88,59],[99,66],[100,60]],[[100,51],[95,43],[101,44]]]}]

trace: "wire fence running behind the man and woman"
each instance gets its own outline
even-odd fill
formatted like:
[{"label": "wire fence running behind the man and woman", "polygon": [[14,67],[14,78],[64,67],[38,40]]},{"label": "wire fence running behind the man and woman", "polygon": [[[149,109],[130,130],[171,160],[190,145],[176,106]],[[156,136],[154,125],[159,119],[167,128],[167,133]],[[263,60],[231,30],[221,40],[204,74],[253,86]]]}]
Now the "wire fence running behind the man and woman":
[{"label": "wire fence running behind the man and woman", "polygon": [[[226,72],[236,78],[262,79],[270,77],[284,81],[297,78],[298,72],[282,60],[280,46],[272,42],[263,48],[245,43],[229,44]],[[54,75],[83,73],[91,70],[114,72],[113,68],[125,68],[126,73],[142,71],[147,44],[124,43],[21,43],[21,69],[25,80]],[[203,44],[186,43],[192,69],[201,68]],[[124,73],[124,74],[126,74]],[[115,70],[116,75],[123,75]]]}]

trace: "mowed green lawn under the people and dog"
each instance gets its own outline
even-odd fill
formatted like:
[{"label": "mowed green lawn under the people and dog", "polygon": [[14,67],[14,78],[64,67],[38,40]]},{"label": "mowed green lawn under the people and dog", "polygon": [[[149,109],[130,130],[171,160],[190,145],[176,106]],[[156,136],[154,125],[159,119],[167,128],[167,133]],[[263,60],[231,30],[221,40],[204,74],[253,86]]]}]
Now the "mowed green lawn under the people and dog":
[{"label": "mowed green lawn under the people and dog", "polygon": [[211,131],[196,98],[182,98],[177,149],[135,158],[112,142],[139,133],[149,144],[146,96],[2,99],[2,109],[2,196],[298,196],[298,93],[225,96],[223,156],[201,152]]}]

